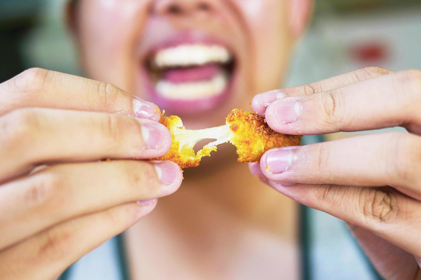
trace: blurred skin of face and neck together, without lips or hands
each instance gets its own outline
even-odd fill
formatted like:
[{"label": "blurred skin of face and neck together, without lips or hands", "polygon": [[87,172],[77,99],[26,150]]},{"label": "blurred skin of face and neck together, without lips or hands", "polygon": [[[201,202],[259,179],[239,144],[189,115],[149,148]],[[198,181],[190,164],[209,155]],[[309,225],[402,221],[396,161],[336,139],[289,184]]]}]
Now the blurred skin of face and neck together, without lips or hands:
[{"label": "blurred skin of face and neck together, without lips or hands", "polygon": [[[231,97],[213,108],[212,118],[209,113],[180,115],[184,125],[192,129],[217,126],[224,123],[232,108],[250,110],[249,103],[256,92],[275,89],[282,81],[290,49],[305,29],[311,5],[309,1],[299,1],[300,9],[291,4],[294,1],[205,1],[216,12],[200,15],[192,8],[199,2],[176,1],[185,12],[174,16],[167,10],[174,1],[80,1],[74,30],[86,73],[147,98],[136,69],[148,42],[154,40],[153,34],[157,30],[165,33],[195,26],[234,46],[239,73]],[[148,8],[152,15],[147,13]],[[155,27],[158,23],[160,29]],[[161,109],[171,114],[171,107]],[[285,197],[273,196],[271,189],[256,188],[253,175],[245,174],[247,166],[237,164],[231,147],[221,147],[199,167],[184,170],[183,188],[177,195],[161,200],[153,215],[126,234],[132,277],[165,278],[176,273],[198,278],[206,271],[210,277],[226,278],[240,270],[248,277],[261,277],[261,270],[250,271],[247,264],[253,262],[253,267],[266,267],[264,271],[269,278],[280,273],[298,278],[296,204]],[[242,180],[236,179],[240,176]],[[220,178],[225,178],[224,184],[219,183]],[[200,205],[192,201],[200,201]],[[186,207],[190,210],[186,211]],[[270,211],[277,214],[268,218]],[[200,215],[186,214],[196,212]],[[218,227],[213,220],[219,221]],[[224,228],[225,236],[221,236],[218,228]],[[256,230],[260,232],[259,238],[248,240],[248,246],[231,242],[249,238]],[[171,242],[153,246],[165,241]],[[199,244],[210,241],[212,253],[203,255]],[[232,257],[239,255],[250,257],[244,260]],[[152,262],[154,259],[160,262]],[[274,262],[275,259],[278,261]],[[165,269],[161,263],[167,264]]]}]

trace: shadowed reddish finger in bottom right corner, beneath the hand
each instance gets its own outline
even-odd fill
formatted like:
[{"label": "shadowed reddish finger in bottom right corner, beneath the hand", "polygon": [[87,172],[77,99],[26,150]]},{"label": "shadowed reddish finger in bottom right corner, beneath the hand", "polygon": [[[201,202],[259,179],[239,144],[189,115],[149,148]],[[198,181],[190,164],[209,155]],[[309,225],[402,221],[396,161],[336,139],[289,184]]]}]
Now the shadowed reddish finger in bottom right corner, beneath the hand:
[{"label": "shadowed reddish finger in bottom right corner, beneath the hand", "polygon": [[[421,272],[414,256],[370,230],[350,225],[352,235],[384,279],[417,279]],[[405,269],[402,269],[405,267]],[[418,277],[419,277],[418,276]]]}]

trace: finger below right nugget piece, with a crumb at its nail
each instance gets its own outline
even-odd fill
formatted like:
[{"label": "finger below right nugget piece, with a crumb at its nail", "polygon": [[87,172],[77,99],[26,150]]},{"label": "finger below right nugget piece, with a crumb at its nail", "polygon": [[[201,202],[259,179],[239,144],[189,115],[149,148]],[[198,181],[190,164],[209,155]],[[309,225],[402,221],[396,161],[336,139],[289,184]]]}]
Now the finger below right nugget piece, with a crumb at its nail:
[{"label": "finger below right nugget piece, with a crumb at its nail", "polygon": [[420,159],[420,136],[392,132],[271,149],[260,167],[277,182],[391,185],[421,199]]}]

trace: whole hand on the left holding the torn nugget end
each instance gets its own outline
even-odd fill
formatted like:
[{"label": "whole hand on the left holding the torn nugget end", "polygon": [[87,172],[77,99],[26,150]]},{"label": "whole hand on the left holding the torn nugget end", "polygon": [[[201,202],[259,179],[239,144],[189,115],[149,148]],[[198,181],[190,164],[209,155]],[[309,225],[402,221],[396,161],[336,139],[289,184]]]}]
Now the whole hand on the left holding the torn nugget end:
[{"label": "whole hand on the left holding the torn nugget end", "polygon": [[1,279],[54,279],[181,184],[145,160],[171,146],[156,105],[116,86],[34,68],[0,104]]}]

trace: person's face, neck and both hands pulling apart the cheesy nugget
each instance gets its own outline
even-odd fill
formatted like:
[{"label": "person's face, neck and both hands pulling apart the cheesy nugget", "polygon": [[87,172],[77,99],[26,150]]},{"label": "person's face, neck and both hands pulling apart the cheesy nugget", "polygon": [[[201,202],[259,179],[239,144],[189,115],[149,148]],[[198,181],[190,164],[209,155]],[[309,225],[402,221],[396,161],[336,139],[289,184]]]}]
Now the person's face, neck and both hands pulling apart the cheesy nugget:
[{"label": "person's face, neck and both hands pulling apart the cheesy nugget", "polygon": [[[1,278],[53,279],[127,230],[133,279],[296,279],[298,201],[348,222],[382,277],[421,279],[421,71],[367,67],[273,91],[311,10],[69,3],[91,79],[32,68],[0,84]],[[184,173],[149,160],[171,145],[160,110],[205,128],[250,102],[280,133],[409,133],[275,148],[251,173],[229,145]]]}]

